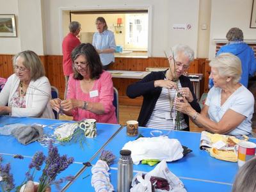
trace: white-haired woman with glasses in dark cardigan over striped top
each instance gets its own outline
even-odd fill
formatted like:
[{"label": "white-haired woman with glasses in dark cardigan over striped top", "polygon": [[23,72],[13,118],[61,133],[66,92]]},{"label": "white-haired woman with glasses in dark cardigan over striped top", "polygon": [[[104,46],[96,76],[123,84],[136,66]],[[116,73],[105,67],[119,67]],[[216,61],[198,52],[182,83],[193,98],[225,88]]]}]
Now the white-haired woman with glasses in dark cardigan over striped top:
[{"label": "white-haired woman with glasses in dark cardigan over striped top", "polygon": [[193,61],[194,52],[186,45],[176,45],[172,55],[168,70],[151,72],[127,87],[128,97],[143,96],[138,117],[140,126],[189,131],[188,115],[179,114],[175,109],[177,93],[186,97],[193,109],[200,112],[193,85],[188,77],[182,75]]}]

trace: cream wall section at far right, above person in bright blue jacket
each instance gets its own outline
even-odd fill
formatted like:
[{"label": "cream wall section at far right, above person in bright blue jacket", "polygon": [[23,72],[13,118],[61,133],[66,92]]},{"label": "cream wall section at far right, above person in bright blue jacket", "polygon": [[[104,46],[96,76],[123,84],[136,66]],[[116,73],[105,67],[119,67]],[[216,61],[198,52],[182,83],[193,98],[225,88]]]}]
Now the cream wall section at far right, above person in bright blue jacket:
[{"label": "cream wall section at far right, above person in bright blue jacket", "polygon": [[256,40],[256,29],[250,28],[253,0],[212,0],[209,59],[215,56],[215,38],[226,39],[230,28],[240,28],[244,40]]}]

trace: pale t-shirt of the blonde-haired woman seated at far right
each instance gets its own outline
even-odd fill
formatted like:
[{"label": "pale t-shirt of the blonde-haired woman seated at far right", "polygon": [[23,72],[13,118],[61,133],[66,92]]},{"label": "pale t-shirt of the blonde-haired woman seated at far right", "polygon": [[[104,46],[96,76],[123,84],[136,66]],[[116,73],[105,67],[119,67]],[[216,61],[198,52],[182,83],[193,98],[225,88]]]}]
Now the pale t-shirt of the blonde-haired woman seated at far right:
[{"label": "pale t-shirt of the blonde-haired woman seated at far right", "polygon": [[[205,104],[209,106],[208,115],[214,122],[220,122],[222,116],[228,109],[232,109],[241,115],[246,116],[243,122],[233,131],[227,134],[234,136],[247,135],[252,133],[252,115],[254,97],[243,85],[240,86],[221,106],[221,88],[212,87],[207,95]],[[232,117],[230,117],[232,118]]]}]

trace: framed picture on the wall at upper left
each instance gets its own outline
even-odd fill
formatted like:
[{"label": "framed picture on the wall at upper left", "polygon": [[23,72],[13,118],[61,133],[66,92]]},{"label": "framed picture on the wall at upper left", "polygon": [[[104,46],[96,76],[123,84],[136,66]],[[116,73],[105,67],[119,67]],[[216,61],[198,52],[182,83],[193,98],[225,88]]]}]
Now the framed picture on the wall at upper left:
[{"label": "framed picture on the wall at upper left", "polygon": [[17,36],[15,15],[0,14],[0,37]]}]

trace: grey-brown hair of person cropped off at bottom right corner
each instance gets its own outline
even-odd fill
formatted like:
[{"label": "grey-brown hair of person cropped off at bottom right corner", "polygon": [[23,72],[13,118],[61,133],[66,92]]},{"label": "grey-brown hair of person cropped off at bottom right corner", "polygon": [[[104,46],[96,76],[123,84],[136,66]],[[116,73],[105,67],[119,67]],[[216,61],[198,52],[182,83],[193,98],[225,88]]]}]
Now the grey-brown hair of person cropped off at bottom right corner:
[{"label": "grey-brown hair of person cropped off at bottom right corner", "polygon": [[247,161],[236,175],[232,192],[256,191],[256,158]]}]

